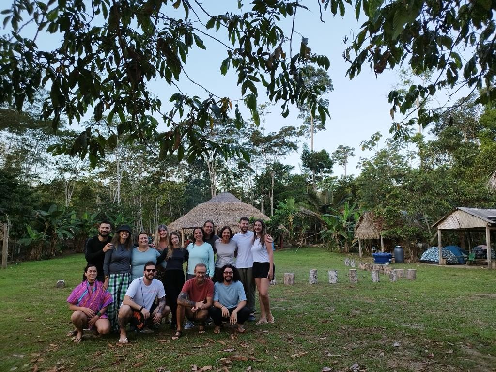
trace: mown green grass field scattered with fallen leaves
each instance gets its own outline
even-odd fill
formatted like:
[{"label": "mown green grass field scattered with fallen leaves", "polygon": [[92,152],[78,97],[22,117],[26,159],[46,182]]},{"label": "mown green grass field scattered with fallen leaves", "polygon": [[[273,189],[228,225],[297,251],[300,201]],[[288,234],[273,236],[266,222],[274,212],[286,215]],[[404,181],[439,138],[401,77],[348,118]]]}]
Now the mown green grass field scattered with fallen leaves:
[{"label": "mown green grass field scattered with fallen leaves", "polygon": [[[372,283],[358,270],[351,285],[345,257],[277,251],[269,291],[275,324],[247,323],[237,336],[191,329],[178,341],[164,324],[155,335],[131,333],[124,347],[117,334],[78,345],[65,336],[73,328],[65,300],[80,282],[82,254],[13,265],[0,271],[0,371],[496,370],[496,271],[396,265],[417,269],[417,280],[381,275]],[[316,285],[308,283],[310,269],[318,270]],[[330,269],[338,270],[337,284],[328,284]],[[294,286],[283,285],[284,272],[296,274]],[[64,289],[55,288],[59,279]]]}]

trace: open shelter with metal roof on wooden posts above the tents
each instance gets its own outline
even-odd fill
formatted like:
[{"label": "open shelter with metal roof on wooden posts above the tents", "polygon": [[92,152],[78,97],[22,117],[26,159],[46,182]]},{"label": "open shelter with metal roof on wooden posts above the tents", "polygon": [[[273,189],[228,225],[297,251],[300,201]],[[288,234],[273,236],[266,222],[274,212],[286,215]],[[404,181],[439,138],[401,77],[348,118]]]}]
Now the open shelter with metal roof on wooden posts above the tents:
[{"label": "open shelter with metal roof on wooden posts above the tents", "polygon": [[437,247],[440,265],[444,264],[441,259],[441,232],[443,230],[486,231],[488,268],[493,268],[491,262],[491,230],[496,230],[496,209],[456,207],[434,223],[433,227],[437,228]]}]

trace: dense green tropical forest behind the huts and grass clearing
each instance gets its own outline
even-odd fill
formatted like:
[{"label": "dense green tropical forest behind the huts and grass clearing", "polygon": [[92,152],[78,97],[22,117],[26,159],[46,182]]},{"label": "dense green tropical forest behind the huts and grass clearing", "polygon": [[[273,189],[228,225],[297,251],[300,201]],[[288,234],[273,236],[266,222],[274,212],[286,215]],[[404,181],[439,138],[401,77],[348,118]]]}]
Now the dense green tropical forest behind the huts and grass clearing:
[{"label": "dense green tropical forest behind the huts and grass clearing", "polygon": [[[426,135],[411,129],[405,141],[377,132],[361,149],[312,151],[305,115],[300,123],[269,132],[264,113],[270,106],[258,109],[260,126],[215,123],[208,133],[218,143],[243,148],[249,157],[206,149],[203,159],[167,155],[160,160],[155,144],[112,135],[117,124],[110,122],[104,135],[115,143],[94,169],[77,156],[52,155],[51,147],[70,141],[74,133],[64,126],[53,134],[37,120],[36,105],[22,113],[1,109],[0,218],[11,223],[10,249],[30,259],[81,251],[102,218],[152,233],[158,224],[229,191],[271,216],[271,233],[292,245],[354,249],[353,229],[361,213],[371,211],[389,248],[401,243],[415,258],[416,243],[430,245],[429,226],[452,208],[495,205],[487,183],[496,169],[496,109],[475,104],[473,97],[440,116]],[[285,164],[300,146],[300,167]],[[362,150],[372,156],[362,157]],[[360,173],[346,175],[355,155]],[[343,176],[333,175],[338,168]],[[446,239],[460,245],[458,235]]]}]

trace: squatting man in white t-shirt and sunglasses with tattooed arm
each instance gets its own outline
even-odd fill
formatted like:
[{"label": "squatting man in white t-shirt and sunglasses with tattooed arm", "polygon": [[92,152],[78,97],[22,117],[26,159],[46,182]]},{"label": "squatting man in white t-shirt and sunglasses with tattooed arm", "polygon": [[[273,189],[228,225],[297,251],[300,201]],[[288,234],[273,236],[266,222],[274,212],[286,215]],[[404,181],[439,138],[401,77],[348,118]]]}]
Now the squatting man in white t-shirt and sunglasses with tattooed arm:
[{"label": "squatting man in white t-shirt and sunglasses with tattooed arm", "polygon": [[[171,312],[165,304],[164,285],[155,279],[157,268],[153,261],[145,263],[143,276],[134,279],[127,289],[124,301],[119,309],[119,327],[121,337],[119,343],[127,344],[126,326],[130,322],[138,331],[149,331],[147,325],[160,324]],[[158,304],[155,301],[158,299]]]}]

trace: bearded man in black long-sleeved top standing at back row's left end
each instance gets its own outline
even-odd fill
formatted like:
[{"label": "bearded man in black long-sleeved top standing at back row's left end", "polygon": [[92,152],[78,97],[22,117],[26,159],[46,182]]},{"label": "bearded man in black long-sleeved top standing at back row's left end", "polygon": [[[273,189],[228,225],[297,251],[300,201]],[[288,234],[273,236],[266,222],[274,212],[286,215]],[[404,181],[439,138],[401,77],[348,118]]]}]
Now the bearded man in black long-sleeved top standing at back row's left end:
[{"label": "bearded man in black long-sleeved top standing at back row's left end", "polygon": [[103,261],[105,252],[112,249],[112,237],[110,231],[112,225],[110,221],[103,220],[98,225],[98,235],[86,240],[84,246],[84,258],[87,263],[94,263],[98,272],[97,280],[104,282]]}]

